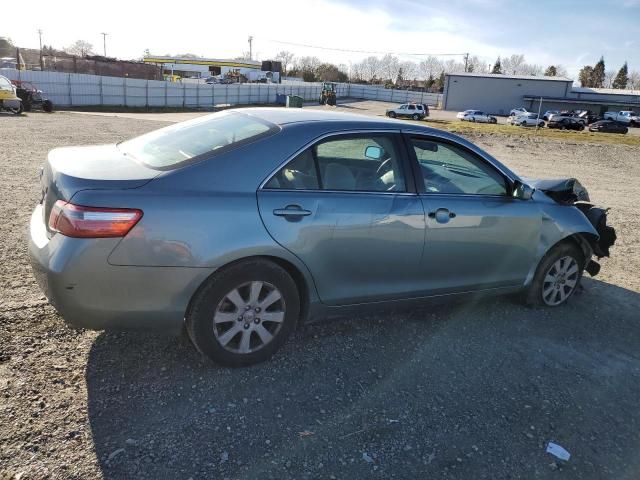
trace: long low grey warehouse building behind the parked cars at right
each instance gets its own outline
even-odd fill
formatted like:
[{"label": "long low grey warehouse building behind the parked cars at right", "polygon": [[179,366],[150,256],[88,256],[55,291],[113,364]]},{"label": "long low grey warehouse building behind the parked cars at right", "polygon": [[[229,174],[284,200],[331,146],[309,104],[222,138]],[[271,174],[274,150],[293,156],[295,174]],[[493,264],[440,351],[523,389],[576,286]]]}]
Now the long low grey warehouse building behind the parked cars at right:
[{"label": "long low grey warehouse building behind the parked cars at right", "polygon": [[564,77],[534,77],[455,73],[446,75],[442,108],[462,111],[483,110],[494,115],[508,115],[515,107],[537,111],[639,110],[640,91],[574,87]]}]

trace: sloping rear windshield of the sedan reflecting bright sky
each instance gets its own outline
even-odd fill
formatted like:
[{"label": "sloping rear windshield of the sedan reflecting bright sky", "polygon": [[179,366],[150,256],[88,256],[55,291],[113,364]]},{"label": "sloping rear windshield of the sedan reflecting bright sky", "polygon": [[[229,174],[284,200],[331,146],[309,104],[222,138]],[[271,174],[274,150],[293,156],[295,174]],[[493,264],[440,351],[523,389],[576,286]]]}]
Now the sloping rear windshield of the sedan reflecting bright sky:
[{"label": "sloping rear windshield of the sedan reflecting bright sky", "polygon": [[219,112],[155,130],[118,147],[151,168],[171,170],[277,131],[276,125],[256,117]]}]

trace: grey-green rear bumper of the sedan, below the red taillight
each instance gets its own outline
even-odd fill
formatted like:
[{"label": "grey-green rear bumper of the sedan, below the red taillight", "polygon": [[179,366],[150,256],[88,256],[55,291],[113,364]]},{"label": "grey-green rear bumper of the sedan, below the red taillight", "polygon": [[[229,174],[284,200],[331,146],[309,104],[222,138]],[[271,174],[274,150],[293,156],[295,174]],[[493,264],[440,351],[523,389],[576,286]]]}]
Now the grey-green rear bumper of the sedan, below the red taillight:
[{"label": "grey-green rear bumper of the sedan, below the red taillight", "polygon": [[49,239],[38,205],[29,234],[34,277],[74,327],[179,332],[191,297],[214,269],[110,265],[107,258],[119,241],[60,234]]}]

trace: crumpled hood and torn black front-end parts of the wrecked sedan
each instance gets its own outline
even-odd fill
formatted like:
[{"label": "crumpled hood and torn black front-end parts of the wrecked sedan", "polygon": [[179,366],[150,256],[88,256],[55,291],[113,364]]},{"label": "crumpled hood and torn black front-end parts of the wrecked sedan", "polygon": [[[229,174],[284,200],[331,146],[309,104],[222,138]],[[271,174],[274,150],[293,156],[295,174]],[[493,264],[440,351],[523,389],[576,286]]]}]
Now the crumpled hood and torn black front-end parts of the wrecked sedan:
[{"label": "crumpled hood and torn black front-end parts of the wrecked sedan", "polygon": [[[575,207],[588,220],[597,235],[590,233],[577,233],[580,239],[579,243],[583,250],[590,250],[585,265],[585,270],[595,276],[600,271],[598,262],[591,260],[591,254],[598,259],[609,256],[609,250],[616,241],[616,231],[607,224],[607,212],[609,209],[597,207],[591,203],[589,192],[575,178],[563,178],[554,180],[534,180],[526,179],[526,182],[536,190],[543,192],[547,197],[551,198],[556,204]],[[555,217],[555,216],[554,216]]]}]

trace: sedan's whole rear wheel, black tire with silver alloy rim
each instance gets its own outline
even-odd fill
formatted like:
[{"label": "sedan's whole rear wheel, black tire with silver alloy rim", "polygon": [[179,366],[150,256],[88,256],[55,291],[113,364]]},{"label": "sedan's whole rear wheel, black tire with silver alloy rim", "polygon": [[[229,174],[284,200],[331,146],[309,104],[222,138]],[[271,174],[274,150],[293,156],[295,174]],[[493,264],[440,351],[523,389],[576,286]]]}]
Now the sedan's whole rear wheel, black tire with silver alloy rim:
[{"label": "sedan's whole rear wheel, black tire with silver alloy rim", "polygon": [[[260,318],[267,314],[269,320]],[[240,367],[269,359],[295,330],[299,315],[300,294],[291,276],[256,259],[211,276],[191,301],[186,327],[203,355]]]}]

